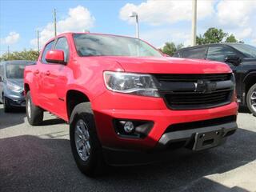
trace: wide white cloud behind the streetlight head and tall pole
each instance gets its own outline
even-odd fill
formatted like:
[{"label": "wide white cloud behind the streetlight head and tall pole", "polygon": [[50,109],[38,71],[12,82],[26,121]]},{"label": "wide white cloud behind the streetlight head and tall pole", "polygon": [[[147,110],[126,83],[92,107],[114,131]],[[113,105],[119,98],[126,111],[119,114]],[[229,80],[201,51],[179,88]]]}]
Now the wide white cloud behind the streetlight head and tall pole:
[{"label": "wide white cloud behind the streetlight head and tall pole", "polygon": [[[140,22],[146,22],[152,26],[191,19],[192,1],[190,0],[147,0],[139,5],[127,3],[119,12],[119,17],[133,23],[130,13],[135,11],[139,15]],[[198,19],[206,18],[214,14],[214,0],[198,1]]]}]

